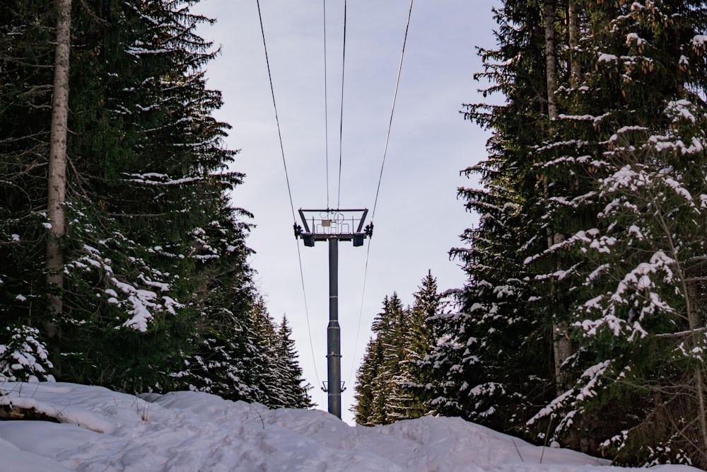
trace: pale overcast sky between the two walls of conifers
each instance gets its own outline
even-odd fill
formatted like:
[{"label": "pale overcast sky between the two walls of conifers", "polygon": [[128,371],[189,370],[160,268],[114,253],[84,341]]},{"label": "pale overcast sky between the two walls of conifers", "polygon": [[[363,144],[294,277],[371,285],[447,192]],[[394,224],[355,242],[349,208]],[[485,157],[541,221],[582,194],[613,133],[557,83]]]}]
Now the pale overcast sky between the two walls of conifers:
[{"label": "pale overcast sky between the two walls of conifers", "polygon": [[[460,171],[484,159],[488,136],[464,121],[459,110],[463,103],[483,100],[472,74],[481,70],[476,47],[494,45],[491,6],[497,3],[414,2],[373,238],[358,248],[339,244],[341,378],[348,388],[342,410],[348,422],[356,369],[383,297],[397,292],[404,304],[411,304],[428,270],[441,290],[464,284],[464,272],[449,260],[448,251],[462,245],[459,235],[478,217],[465,212],[457,188],[477,185]],[[323,1],[260,4],[294,208],[324,208],[327,200],[329,207],[336,207],[344,1],[326,3],[328,197]],[[409,6],[408,0],[348,2],[342,209],[373,210]],[[241,150],[233,168],[247,174],[233,200],[255,215],[256,227],[247,242],[257,251],[251,261],[257,284],[271,316],[279,320],[286,315],[291,322],[300,364],[315,387],[312,397],[317,408],[326,410],[327,397],[320,387],[327,380],[327,244],[308,248],[293,235],[257,3],[202,0],[194,11],[218,20],[201,30],[204,38],[221,46],[221,55],[207,65],[208,86],[223,92],[224,106],[216,117],[233,126],[227,144]]]}]

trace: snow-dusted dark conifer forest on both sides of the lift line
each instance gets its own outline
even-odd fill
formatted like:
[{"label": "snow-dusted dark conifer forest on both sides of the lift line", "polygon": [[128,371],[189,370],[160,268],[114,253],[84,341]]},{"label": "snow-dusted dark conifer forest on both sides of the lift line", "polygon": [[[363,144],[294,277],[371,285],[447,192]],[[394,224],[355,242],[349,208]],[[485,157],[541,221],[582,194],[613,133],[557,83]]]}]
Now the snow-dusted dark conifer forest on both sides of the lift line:
[{"label": "snow-dusted dark conifer forest on both sides of the lift line", "polygon": [[[250,267],[198,2],[0,3],[0,381],[312,408]],[[458,189],[466,282],[382,300],[356,422],[707,469],[707,2],[493,18],[488,101],[460,105],[490,136],[460,169],[481,182]]]}]

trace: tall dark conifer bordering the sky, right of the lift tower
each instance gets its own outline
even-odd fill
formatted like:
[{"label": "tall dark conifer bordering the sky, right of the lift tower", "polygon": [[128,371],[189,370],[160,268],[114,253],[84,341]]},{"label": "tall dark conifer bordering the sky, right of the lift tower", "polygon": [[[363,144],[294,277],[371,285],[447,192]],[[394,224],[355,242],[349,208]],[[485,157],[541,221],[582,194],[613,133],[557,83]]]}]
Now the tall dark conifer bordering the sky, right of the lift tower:
[{"label": "tall dark conifer bordering the sky, right of the lift tower", "polygon": [[[503,105],[467,105],[469,120],[492,132],[489,159],[464,173],[479,173],[484,188],[461,188],[479,226],[462,235],[469,246],[452,249],[467,272],[459,312],[438,316],[433,352],[437,413],[460,415],[511,431],[532,416],[554,390],[551,314],[535,274],[525,262],[547,251],[552,221],[546,216],[554,178],[539,161],[538,143],[549,137],[544,4],[506,1],[495,11],[496,50],[480,50],[478,79],[499,93]],[[550,96],[554,98],[554,96]],[[557,292],[554,292],[557,293]]]}]

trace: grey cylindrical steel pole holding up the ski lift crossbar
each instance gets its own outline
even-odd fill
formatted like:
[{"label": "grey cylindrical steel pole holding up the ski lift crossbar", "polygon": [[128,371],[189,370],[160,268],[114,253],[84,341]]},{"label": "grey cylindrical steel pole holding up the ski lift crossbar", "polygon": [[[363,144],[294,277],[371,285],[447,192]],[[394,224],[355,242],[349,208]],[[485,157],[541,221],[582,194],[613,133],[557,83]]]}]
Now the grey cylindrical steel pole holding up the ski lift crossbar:
[{"label": "grey cylindrical steel pole holding up the ski lift crossbar", "polygon": [[341,330],[339,328],[339,238],[329,238],[329,326],[327,328],[329,413],[341,419]]}]

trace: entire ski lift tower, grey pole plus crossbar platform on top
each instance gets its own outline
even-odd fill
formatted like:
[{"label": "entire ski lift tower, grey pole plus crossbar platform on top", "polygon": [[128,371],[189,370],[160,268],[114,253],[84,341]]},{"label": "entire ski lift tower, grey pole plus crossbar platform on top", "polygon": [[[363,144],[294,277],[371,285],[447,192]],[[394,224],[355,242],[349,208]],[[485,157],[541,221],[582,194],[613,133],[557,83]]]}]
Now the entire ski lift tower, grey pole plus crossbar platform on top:
[{"label": "entire ski lift tower, grey pole plus crossbar platform on top", "polygon": [[329,413],[341,419],[341,330],[339,328],[339,241],[363,246],[373,235],[373,223],[363,226],[368,209],[300,209],[302,225],[295,223],[295,237],[305,246],[329,241],[329,326],[327,328],[327,384]]}]

